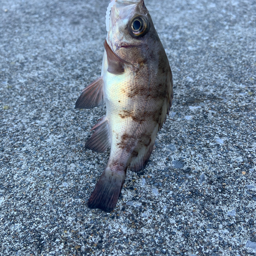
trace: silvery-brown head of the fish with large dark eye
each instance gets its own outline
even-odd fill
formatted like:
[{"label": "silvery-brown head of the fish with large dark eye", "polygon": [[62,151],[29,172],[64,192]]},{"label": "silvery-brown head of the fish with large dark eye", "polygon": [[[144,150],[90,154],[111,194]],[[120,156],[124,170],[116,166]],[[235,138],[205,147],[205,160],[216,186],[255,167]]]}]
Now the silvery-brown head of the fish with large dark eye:
[{"label": "silvery-brown head of the fish with large dark eye", "polygon": [[129,63],[143,61],[142,48],[152,37],[158,37],[144,0],[112,0],[106,13],[106,30],[112,51]]}]

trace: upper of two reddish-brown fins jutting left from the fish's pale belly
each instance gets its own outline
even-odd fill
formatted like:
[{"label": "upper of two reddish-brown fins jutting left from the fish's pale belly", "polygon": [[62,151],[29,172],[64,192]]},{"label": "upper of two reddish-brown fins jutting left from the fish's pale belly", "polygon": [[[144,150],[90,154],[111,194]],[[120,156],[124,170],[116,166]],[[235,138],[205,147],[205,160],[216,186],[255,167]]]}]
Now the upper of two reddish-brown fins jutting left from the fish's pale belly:
[{"label": "upper of two reddish-brown fins jutting left from the fish's pale belly", "polygon": [[83,89],[76,101],[75,109],[90,109],[105,102],[102,76],[94,80],[88,87]]}]

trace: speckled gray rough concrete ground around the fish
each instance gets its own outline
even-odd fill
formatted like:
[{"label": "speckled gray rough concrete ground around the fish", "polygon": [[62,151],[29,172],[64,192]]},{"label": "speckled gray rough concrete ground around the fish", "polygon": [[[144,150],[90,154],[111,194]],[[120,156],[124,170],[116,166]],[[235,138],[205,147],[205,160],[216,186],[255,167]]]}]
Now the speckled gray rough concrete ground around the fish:
[{"label": "speckled gray rough concrete ground around the fish", "polygon": [[1,255],[255,255],[255,1],[146,2],[174,103],[111,214],[87,207],[109,151],[100,106],[108,1],[0,1]]}]

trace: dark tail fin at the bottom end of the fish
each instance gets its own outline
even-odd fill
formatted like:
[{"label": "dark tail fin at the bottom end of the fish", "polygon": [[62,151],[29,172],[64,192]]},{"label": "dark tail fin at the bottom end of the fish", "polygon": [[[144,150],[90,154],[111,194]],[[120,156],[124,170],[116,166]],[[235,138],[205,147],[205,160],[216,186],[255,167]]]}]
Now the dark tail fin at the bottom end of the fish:
[{"label": "dark tail fin at the bottom end of the fish", "polygon": [[105,168],[88,201],[90,208],[99,208],[108,212],[115,208],[125,179],[126,169],[111,170],[108,166]]}]

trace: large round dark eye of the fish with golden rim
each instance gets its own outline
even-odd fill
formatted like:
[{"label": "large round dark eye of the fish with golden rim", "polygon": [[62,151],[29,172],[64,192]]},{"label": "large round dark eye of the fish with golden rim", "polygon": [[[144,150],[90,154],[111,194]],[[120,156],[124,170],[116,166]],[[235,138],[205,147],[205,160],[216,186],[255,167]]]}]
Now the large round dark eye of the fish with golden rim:
[{"label": "large round dark eye of the fish with golden rim", "polygon": [[135,37],[142,37],[150,30],[150,23],[147,18],[139,15],[132,18],[130,23],[130,32]]}]

